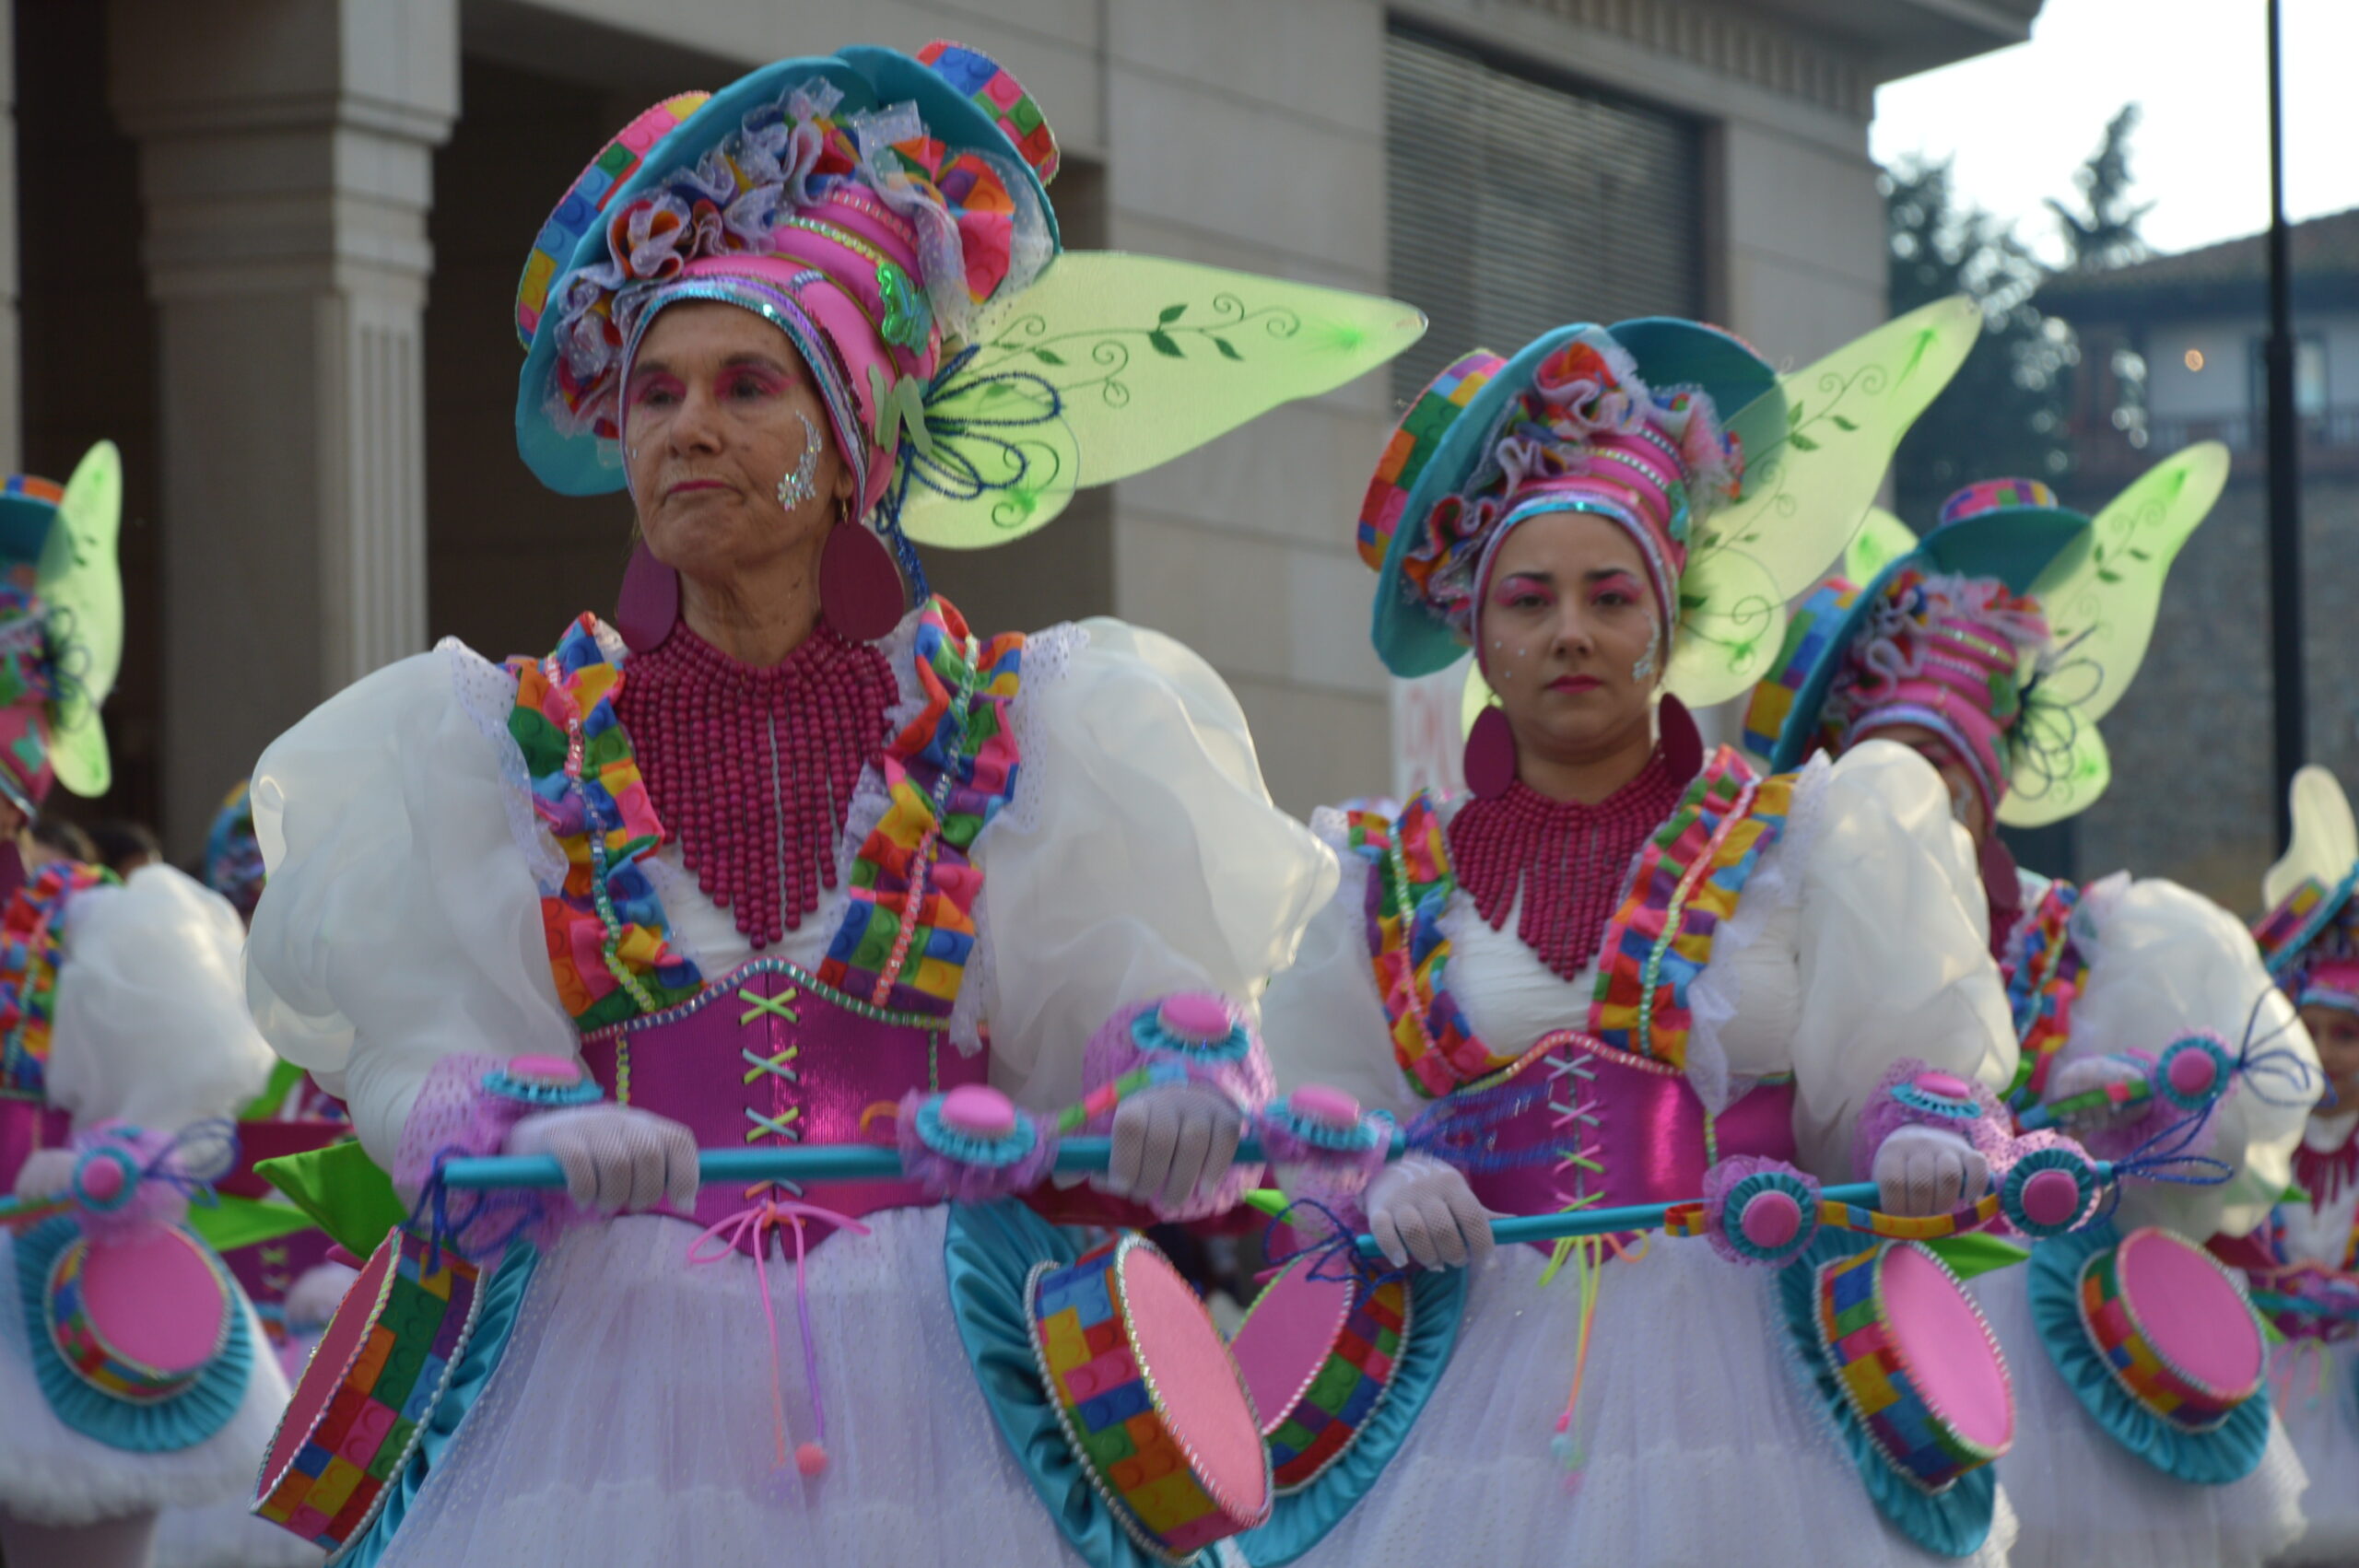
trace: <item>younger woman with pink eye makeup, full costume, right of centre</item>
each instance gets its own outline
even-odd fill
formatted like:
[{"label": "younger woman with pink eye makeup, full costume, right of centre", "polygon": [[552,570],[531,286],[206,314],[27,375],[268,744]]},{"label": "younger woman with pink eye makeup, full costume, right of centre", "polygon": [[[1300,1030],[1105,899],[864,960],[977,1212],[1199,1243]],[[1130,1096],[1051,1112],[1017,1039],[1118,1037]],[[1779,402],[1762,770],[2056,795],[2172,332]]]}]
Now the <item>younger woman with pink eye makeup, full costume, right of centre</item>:
[{"label": "younger woman with pink eye makeup, full costume, right of centre", "polygon": [[[1281,1085],[1496,1125],[1472,1179],[1406,1158],[1300,1193],[1397,1264],[1472,1264],[1418,1424],[1354,1450],[1380,1474],[1302,1561],[2003,1561],[1986,1467],[1904,1481],[1809,1327],[1821,1264],[1857,1285],[1885,1257],[1819,1231],[1819,1181],[1949,1217],[1993,1170],[1894,1099],[2015,1070],[1941,785],[1901,747],[1765,778],[1706,757],[1682,705],[1760,674],[1974,332],[1944,302],[1781,384],[1715,328],[1569,325],[1467,354],[1401,420],[1361,512],[1375,646],[1404,677],[1472,646],[1496,705],[1472,799],[1319,813],[1345,879],[1264,1030]],[[1484,1257],[1486,1212],[1698,1193],[1788,1224]],[[1892,1278],[1949,1294],[1986,1370],[1960,1412],[1996,1438],[2005,1377],[1963,1292],[1925,1252]],[[1257,1563],[1305,1544],[1246,1537]]]}]

